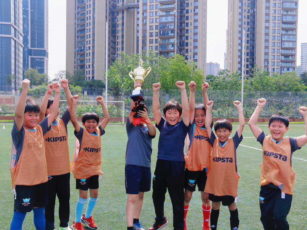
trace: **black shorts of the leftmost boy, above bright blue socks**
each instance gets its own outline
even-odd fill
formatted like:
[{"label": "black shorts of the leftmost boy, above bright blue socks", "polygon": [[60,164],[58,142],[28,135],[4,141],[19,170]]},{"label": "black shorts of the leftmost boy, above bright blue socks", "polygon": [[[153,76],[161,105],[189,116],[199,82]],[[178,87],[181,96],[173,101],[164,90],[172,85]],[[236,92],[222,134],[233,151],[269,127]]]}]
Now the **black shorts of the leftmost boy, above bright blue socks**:
[{"label": "black shorts of the leftmost boy, above bright blue socks", "polygon": [[31,212],[33,207],[45,207],[48,204],[47,182],[38,185],[16,185],[14,211]]}]

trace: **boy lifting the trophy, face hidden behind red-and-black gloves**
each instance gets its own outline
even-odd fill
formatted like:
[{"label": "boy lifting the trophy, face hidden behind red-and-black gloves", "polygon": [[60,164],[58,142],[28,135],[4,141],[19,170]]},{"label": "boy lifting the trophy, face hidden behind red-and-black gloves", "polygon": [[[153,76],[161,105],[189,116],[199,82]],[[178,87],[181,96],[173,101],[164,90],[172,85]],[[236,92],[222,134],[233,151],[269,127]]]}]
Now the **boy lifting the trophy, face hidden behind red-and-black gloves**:
[{"label": "boy lifting the trophy, face hidden behind red-and-black gloves", "polygon": [[[137,86],[142,86],[142,83],[135,82],[134,89]],[[131,110],[134,104],[131,100]],[[133,125],[134,114],[131,110],[126,122],[128,136],[125,160],[126,221],[127,230],[144,230],[139,218],[144,192],[150,191],[151,140],[156,136],[156,128],[148,118],[147,107],[138,111],[138,116],[142,118],[139,125]]]}]

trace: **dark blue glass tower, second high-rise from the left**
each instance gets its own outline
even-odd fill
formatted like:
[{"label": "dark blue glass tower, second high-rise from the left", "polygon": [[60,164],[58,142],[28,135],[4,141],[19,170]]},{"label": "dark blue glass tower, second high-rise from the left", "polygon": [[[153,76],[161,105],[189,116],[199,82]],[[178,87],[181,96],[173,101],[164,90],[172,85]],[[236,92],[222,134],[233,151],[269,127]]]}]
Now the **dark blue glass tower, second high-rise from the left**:
[{"label": "dark blue glass tower, second high-rise from the left", "polygon": [[23,0],[23,72],[48,74],[48,0]]}]

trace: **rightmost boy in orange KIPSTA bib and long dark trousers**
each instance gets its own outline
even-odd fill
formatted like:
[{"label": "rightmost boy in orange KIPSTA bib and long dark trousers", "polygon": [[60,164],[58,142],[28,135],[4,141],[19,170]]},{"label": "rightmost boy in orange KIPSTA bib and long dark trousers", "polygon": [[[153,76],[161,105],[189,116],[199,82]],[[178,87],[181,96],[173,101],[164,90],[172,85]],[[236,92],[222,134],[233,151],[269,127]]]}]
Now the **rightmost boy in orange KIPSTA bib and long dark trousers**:
[{"label": "rightmost boy in orange KIPSTA bib and long dark trousers", "polygon": [[307,108],[299,107],[305,121],[305,135],[284,138],[289,129],[289,119],[275,113],[269,119],[270,135],[257,126],[257,120],[266,99],[257,100],[257,107],[248,122],[257,141],[262,144],[260,175],[260,220],[265,230],[289,229],[287,215],[290,211],[295,173],[292,170],[293,152],[307,143]]}]

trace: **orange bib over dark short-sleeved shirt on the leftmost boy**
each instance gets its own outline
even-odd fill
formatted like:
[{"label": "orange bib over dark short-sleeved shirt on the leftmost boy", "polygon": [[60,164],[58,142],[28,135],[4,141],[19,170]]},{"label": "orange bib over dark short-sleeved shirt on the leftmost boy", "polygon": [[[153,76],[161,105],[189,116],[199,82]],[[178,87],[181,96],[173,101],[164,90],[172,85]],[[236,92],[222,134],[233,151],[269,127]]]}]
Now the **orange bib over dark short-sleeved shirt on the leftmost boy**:
[{"label": "orange bib over dark short-sleeved shirt on the leftmost boy", "polygon": [[48,180],[43,135],[49,130],[47,117],[34,129],[22,127],[21,131],[14,121],[10,162],[13,189],[15,185],[37,185]]}]

